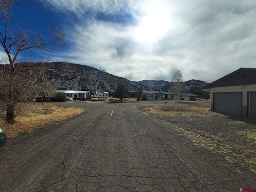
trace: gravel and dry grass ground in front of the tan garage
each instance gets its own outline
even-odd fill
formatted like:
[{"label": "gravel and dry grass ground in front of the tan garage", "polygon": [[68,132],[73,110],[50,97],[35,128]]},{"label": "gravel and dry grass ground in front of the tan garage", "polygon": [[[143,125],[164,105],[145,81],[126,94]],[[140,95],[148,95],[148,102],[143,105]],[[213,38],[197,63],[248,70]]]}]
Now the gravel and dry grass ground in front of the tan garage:
[{"label": "gravel and dry grass ground in front of the tan garage", "polygon": [[155,106],[140,108],[183,131],[196,146],[220,153],[231,163],[237,158],[256,173],[256,121],[207,112],[207,107]]}]

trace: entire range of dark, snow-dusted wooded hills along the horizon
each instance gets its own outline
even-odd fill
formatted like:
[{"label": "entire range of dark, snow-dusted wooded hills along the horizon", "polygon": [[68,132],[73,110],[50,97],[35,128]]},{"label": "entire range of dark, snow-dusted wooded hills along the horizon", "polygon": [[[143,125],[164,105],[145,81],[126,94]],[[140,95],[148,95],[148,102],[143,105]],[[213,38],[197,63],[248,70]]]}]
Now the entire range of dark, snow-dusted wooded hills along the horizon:
[{"label": "entire range of dark, snow-dusted wooded hills along the horizon", "polygon": [[[53,65],[58,68],[58,65],[63,63],[54,62]],[[66,63],[66,72],[62,77],[52,74],[49,80],[53,82],[58,89],[66,90],[103,90],[114,92],[119,82],[125,84],[129,92],[142,92],[143,90],[167,91],[170,89],[170,82],[164,80],[142,80],[130,81],[126,78],[114,76],[107,72],[98,70],[97,68]],[[202,88],[206,82],[200,80],[189,80],[185,82],[186,90],[190,88]]]}]

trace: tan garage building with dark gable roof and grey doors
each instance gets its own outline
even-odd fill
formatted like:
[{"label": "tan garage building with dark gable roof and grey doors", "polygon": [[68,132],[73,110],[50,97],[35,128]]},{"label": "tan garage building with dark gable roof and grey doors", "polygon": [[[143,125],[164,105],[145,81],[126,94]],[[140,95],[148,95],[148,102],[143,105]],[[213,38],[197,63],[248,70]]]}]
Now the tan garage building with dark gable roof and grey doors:
[{"label": "tan garage building with dark gable roof and grey doors", "polygon": [[240,68],[206,86],[211,111],[256,117],[256,68]]}]

